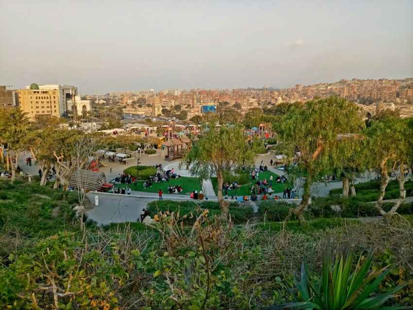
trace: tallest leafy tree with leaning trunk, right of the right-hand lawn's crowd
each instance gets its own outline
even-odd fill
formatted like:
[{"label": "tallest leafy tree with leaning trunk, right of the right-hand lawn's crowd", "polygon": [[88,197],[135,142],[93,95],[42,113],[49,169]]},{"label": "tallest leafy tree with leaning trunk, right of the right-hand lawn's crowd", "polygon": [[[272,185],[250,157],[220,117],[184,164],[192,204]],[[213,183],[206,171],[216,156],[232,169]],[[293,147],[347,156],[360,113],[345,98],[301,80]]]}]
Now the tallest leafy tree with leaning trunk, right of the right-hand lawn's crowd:
[{"label": "tallest leafy tree with leaning trunk, right of the right-hand lawn's crowd", "polygon": [[310,188],[322,172],[332,171],[339,161],[340,134],[359,133],[364,122],[355,103],[330,97],[309,101],[305,106],[294,106],[284,115],[278,126],[284,154],[291,157],[299,152],[299,161],[307,172],[303,184],[303,199],[293,210],[300,224],[305,222],[303,211],[309,203]]}]

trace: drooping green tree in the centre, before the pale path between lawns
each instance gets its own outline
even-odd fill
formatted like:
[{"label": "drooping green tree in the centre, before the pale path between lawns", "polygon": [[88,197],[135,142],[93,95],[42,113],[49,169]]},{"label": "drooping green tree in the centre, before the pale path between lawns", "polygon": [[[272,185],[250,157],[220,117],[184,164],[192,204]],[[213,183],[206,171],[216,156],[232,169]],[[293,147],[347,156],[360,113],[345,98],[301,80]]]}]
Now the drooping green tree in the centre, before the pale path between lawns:
[{"label": "drooping green tree in the centre, before the pale path between lawns", "polygon": [[240,126],[222,126],[216,130],[213,124],[215,122],[203,126],[204,134],[185,154],[183,163],[189,161],[189,172],[198,176],[201,181],[216,174],[218,202],[222,218],[226,219],[229,203],[224,200],[222,194],[224,175],[244,165],[253,164],[256,154],[248,145]]}]

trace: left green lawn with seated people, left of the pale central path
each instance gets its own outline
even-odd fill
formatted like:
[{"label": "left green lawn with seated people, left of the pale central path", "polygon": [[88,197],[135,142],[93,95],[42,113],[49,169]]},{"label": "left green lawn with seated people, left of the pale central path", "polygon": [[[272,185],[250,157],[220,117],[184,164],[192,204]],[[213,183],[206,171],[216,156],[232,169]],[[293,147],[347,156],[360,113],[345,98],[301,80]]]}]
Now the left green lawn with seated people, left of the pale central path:
[{"label": "left green lawn with seated people, left of the pale central path", "polygon": [[[111,181],[111,183],[113,183]],[[162,189],[164,194],[167,194],[167,188],[168,186],[175,186],[175,185],[180,185],[182,186],[182,194],[190,194],[194,190],[202,190],[201,187],[201,182],[199,181],[198,178],[192,178],[192,177],[181,177],[178,179],[169,179],[168,182],[158,182],[158,183],[153,183],[152,187],[147,187],[146,189],[143,188],[143,181],[138,181],[138,185],[131,185],[132,191],[145,191],[148,193],[157,193],[159,189]],[[125,188],[127,184],[118,184],[116,187],[119,188]]]}]

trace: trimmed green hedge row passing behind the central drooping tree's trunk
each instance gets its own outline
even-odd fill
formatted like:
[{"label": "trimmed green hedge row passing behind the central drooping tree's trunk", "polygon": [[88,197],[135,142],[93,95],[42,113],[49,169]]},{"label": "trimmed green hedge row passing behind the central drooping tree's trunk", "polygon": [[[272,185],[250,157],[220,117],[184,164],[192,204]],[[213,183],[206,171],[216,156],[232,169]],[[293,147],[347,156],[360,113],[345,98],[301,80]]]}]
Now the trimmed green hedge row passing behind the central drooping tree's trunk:
[{"label": "trimmed green hedge row passing behind the central drooping tree's trunk", "polygon": [[[198,207],[199,206],[199,207]],[[173,200],[162,200],[162,201],[152,201],[148,204],[148,214],[154,217],[157,214],[157,210],[165,212],[176,212],[179,209],[180,217],[182,218],[185,214],[193,213],[193,217],[189,216],[185,219],[185,223],[193,224],[202,209],[208,209],[209,216],[220,215],[221,207],[218,202],[215,201],[203,201],[195,203],[193,201],[173,201]],[[254,208],[247,202],[232,202],[229,204],[229,214],[231,214],[231,219],[234,224],[241,224],[248,219],[254,217]]]}]

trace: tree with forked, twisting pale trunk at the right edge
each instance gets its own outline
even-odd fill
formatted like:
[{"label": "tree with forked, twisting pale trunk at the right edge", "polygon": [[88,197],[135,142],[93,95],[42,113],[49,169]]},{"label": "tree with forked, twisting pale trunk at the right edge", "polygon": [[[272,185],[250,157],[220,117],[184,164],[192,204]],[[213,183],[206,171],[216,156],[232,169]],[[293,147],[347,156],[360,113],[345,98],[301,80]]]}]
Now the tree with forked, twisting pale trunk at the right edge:
[{"label": "tree with forked, twisting pale trunk at the right edge", "polygon": [[[380,195],[376,203],[379,213],[390,221],[397,208],[403,204],[406,191],[403,171],[405,165],[412,164],[412,120],[402,120],[390,115],[379,117],[370,122],[366,130],[368,168],[375,169],[380,176]],[[390,181],[390,173],[394,173],[399,184],[399,199],[389,212],[383,210],[383,198]]]}]

